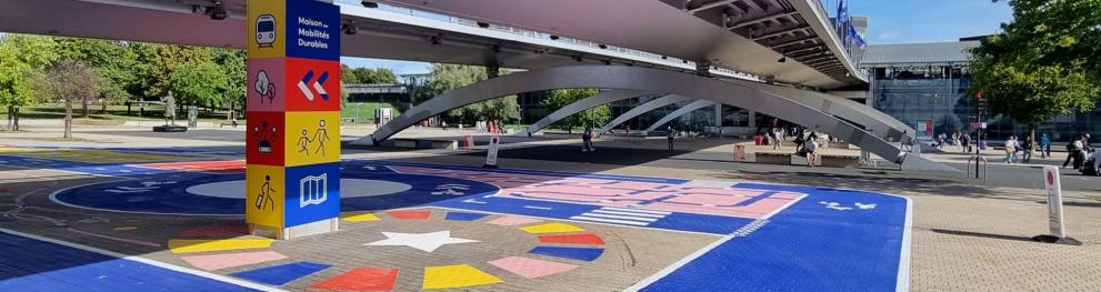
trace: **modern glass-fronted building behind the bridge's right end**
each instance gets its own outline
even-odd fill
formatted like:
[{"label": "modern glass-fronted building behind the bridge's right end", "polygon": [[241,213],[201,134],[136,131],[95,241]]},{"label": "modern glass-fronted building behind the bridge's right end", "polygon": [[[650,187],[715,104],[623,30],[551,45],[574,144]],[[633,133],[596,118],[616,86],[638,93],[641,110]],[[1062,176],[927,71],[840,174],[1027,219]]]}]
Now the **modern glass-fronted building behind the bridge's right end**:
[{"label": "modern glass-fronted building behind the bridge's right end", "polygon": [[[869,46],[860,63],[869,77],[869,105],[918,129],[919,135],[973,132],[972,122],[985,122],[988,140],[1003,140],[1010,134],[1027,134],[1028,125],[1003,117],[977,120],[974,97],[965,92],[971,85],[968,68],[969,48],[979,46],[975,38],[958,42]],[[1037,128],[1055,141],[1068,141],[1081,133],[1101,133],[1101,107],[1092,112],[1053,118]]]}]

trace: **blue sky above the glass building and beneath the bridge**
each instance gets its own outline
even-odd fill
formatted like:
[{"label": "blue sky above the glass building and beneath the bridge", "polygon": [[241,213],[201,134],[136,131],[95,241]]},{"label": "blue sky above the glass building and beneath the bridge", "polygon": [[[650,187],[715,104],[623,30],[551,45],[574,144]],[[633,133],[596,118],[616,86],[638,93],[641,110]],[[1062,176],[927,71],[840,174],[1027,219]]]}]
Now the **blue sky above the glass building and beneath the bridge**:
[{"label": "blue sky above the glass building and beneath the bridge", "polygon": [[[821,0],[833,14],[840,0]],[[997,33],[1012,19],[1007,1],[990,0],[849,0],[850,14],[868,18],[868,43],[957,41]],[[428,73],[429,63],[341,58],[351,67],[390,68],[398,74]]]}]

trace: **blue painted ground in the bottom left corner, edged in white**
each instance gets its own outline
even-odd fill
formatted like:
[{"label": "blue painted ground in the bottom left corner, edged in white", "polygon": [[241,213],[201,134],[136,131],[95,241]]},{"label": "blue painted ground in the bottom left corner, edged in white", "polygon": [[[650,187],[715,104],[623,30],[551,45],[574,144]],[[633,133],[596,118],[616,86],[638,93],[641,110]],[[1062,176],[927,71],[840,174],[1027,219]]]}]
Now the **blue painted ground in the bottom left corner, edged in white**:
[{"label": "blue painted ground in the bottom left corner, edged in white", "polygon": [[0,291],[254,291],[0,232]]}]

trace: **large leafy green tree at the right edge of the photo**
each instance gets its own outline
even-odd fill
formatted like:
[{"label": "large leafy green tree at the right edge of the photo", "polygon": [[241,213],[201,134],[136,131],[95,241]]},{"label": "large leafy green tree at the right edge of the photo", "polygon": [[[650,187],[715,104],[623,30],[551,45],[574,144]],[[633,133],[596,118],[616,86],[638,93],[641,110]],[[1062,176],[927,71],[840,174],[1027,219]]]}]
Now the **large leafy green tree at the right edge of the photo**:
[{"label": "large leafy green tree at the right edge of the photo", "polygon": [[[971,50],[974,83],[994,114],[1029,125],[1089,111],[1101,92],[1101,0],[1010,0],[1013,20]],[[1033,149],[1035,149],[1033,147]]]}]

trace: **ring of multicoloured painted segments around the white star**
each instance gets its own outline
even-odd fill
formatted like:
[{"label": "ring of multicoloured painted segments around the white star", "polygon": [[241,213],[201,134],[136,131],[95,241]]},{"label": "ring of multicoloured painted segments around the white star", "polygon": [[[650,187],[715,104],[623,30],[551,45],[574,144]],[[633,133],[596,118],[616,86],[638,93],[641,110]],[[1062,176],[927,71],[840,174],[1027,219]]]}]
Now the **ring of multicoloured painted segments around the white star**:
[{"label": "ring of multicoloured painted segments around the white star", "polygon": [[[386,215],[380,215],[384,213]],[[528,217],[491,215],[479,212],[440,210],[390,210],[381,213],[350,212],[341,219],[351,222],[381,220],[424,221],[433,213],[442,214],[447,221],[492,224],[516,228],[537,238],[539,244],[526,253],[513,254],[486,262],[467,262],[451,265],[423,268],[420,279],[422,289],[470,288],[503,283],[510,276],[492,274],[488,265],[508,271],[523,279],[539,279],[570,272],[587,262],[598,260],[604,253],[604,240],[600,234],[581,226],[544,221]],[[313,273],[332,268],[332,264],[296,261],[290,256],[270,250],[276,242],[270,239],[241,238],[247,233],[242,226],[211,225],[187,230],[170,240],[172,253],[206,271],[257,265],[234,272],[231,275],[249,281],[284,285]],[[330,290],[392,290],[401,274],[396,266],[357,266],[336,276],[311,283],[311,288]]]}]

